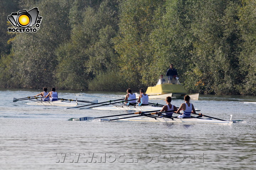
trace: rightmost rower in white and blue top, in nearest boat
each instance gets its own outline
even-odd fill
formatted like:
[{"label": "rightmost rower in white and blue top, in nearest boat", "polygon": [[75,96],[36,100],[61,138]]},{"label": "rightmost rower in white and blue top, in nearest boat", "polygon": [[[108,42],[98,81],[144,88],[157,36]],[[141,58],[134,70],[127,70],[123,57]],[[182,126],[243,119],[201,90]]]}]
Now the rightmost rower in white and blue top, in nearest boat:
[{"label": "rightmost rower in white and blue top, in nearest boat", "polygon": [[177,110],[177,113],[180,113],[183,109],[183,114],[179,115],[178,118],[190,118],[191,113],[196,113],[194,106],[190,103],[190,96],[184,96],[185,103],[182,103],[180,108]]}]

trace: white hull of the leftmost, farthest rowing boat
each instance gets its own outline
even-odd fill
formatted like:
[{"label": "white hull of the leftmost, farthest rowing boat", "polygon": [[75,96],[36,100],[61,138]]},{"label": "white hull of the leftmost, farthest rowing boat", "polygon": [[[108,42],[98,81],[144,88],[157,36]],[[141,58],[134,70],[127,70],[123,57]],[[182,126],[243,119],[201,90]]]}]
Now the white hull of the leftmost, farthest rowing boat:
[{"label": "white hull of the leftmost, farthest rowing boat", "polygon": [[40,101],[40,100],[32,100],[34,102],[27,103],[29,105],[44,105],[44,106],[66,106],[66,107],[75,107],[78,103],[71,103],[69,102],[64,102],[62,100],[58,101]]}]

